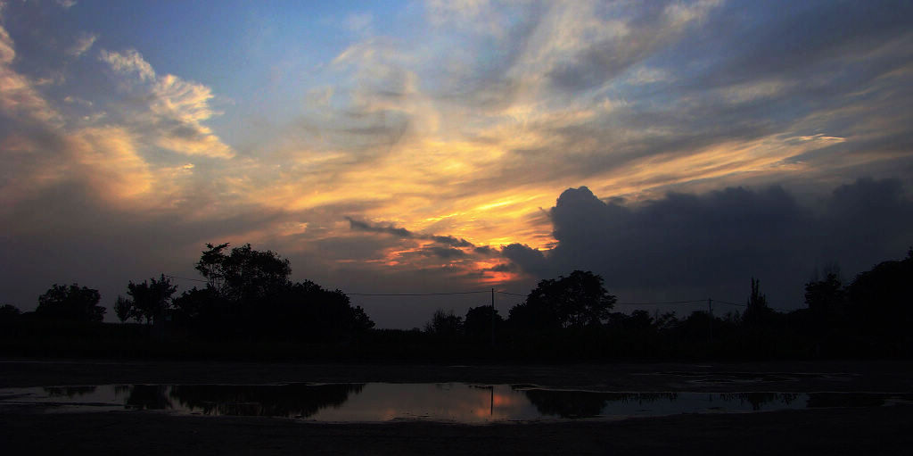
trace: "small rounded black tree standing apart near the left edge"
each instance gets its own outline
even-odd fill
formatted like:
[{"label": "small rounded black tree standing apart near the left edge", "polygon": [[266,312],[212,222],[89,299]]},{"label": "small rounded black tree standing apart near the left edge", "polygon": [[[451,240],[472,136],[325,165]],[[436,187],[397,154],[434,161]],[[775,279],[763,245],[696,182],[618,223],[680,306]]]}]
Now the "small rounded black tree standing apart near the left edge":
[{"label": "small rounded black tree standing apart near the left edge", "polygon": [[55,283],[38,296],[37,316],[47,320],[71,322],[100,322],[107,309],[98,305],[101,295],[98,290],[79,287],[78,284],[58,285]]}]

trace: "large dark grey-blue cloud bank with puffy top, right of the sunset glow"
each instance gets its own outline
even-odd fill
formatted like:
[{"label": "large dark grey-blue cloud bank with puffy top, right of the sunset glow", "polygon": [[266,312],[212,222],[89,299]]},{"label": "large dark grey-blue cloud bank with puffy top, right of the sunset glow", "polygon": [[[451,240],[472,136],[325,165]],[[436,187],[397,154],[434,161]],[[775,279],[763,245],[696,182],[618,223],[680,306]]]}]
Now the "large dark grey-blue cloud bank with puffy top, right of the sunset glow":
[{"label": "large dark grey-blue cloud bank with puffy top, right of the sunset glow", "polygon": [[836,260],[852,279],[913,245],[913,201],[897,180],[840,186],[820,209],[777,186],[669,194],[642,205],[571,188],[551,220],[554,249],[513,244],[504,257],[539,277],[593,270],[637,298],[741,299],[756,277],[772,302],[793,307],[815,268]]}]

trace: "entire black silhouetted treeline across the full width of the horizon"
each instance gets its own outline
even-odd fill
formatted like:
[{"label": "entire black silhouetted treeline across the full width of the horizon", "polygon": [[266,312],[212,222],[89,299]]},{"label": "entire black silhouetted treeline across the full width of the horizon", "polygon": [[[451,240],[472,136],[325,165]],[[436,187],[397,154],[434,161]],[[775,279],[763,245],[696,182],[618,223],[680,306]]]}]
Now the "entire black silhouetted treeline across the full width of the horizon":
[{"label": "entire black silhouetted treeline across the full width of the horizon", "polygon": [[806,308],[771,309],[752,279],[744,312],[614,312],[603,279],[575,270],[543,280],[507,318],[490,306],[438,310],[424,329],[377,330],[340,290],[293,282],[288,260],[249,244],[207,244],[205,286],[176,295],[161,275],[129,282],[101,323],[96,290],[52,286],[35,312],[0,306],[6,355],[300,359],[898,357],[913,355],[913,249],[844,283],[831,271],[805,284]]}]

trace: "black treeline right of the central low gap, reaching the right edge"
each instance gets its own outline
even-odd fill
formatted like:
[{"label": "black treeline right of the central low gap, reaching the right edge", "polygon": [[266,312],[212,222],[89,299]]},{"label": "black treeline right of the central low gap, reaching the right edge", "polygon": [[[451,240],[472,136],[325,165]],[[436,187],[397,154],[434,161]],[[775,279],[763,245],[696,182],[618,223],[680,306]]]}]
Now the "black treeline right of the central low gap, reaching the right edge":
[{"label": "black treeline right of the central low gap, reaching the right edge", "polygon": [[913,249],[844,283],[837,271],[805,284],[806,308],[776,312],[751,279],[743,312],[614,311],[592,272],[540,281],[507,319],[490,306],[437,311],[424,334],[441,345],[484,345],[523,358],[688,356],[897,357],[913,355]]}]

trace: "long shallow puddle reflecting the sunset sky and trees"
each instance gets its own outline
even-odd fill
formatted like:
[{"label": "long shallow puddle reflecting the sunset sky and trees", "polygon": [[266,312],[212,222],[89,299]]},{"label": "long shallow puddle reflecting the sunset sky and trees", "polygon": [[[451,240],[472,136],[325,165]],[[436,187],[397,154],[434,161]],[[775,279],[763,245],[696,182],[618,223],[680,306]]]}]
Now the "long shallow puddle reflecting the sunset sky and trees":
[{"label": "long shallow puddle reflecting the sunset sky and trees", "polygon": [[533,385],[465,383],[103,385],[0,389],[0,408],[37,412],[131,409],[321,422],[417,419],[468,424],[624,419],[790,408],[881,407],[910,401],[913,401],[913,394],[595,392]]}]

